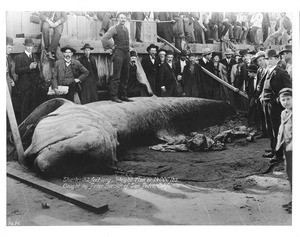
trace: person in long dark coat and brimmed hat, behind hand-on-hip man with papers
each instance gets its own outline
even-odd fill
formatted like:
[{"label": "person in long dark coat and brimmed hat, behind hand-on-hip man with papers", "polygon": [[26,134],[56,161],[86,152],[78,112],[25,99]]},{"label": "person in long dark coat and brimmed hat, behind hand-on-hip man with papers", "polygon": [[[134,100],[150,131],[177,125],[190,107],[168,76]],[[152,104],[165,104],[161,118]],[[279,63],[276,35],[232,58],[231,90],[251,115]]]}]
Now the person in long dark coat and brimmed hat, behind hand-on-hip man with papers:
[{"label": "person in long dark coat and brimmed hat, behind hand-on-hip man with papers", "polygon": [[96,60],[91,56],[91,51],[94,48],[89,44],[85,44],[81,50],[83,50],[84,55],[78,61],[89,71],[89,75],[81,83],[80,99],[82,104],[87,104],[98,101],[97,82],[99,77]]}]

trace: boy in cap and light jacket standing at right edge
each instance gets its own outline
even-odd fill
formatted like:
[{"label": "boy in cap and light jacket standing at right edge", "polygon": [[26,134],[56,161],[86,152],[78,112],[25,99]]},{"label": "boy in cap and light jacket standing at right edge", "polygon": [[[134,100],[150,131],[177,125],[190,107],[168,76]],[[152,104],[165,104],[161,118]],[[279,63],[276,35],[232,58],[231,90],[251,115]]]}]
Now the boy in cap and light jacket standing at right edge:
[{"label": "boy in cap and light jacket standing at right edge", "polygon": [[[292,192],[292,152],[293,152],[293,115],[292,115],[292,107],[293,107],[293,98],[292,98],[292,89],[291,88],[283,88],[279,91],[279,100],[284,108],[281,112],[281,124],[278,131],[277,145],[276,150],[279,150],[283,147],[283,152],[285,156],[286,162],[286,173],[289,179],[290,188]],[[292,201],[288,204],[283,205],[288,213],[292,213]]]}]

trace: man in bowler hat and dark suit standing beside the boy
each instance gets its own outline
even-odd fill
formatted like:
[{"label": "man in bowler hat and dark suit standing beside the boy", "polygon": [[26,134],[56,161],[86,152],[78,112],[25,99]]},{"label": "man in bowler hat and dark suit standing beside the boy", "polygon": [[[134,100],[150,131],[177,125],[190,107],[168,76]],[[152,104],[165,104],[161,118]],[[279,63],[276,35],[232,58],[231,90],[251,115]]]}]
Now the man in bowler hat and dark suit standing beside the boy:
[{"label": "man in bowler hat and dark suit standing beside the boy", "polygon": [[268,60],[269,69],[261,100],[272,151],[264,154],[263,157],[272,158],[270,160],[271,163],[278,163],[283,161],[283,150],[279,149],[275,151],[280,125],[280,114],[282,111],[282,106],[278,101],[279,91],[283,88],[292,88],[292,81],[288,73],[277,65],[279,55],[274,49],[267,51],[266,58]]}]

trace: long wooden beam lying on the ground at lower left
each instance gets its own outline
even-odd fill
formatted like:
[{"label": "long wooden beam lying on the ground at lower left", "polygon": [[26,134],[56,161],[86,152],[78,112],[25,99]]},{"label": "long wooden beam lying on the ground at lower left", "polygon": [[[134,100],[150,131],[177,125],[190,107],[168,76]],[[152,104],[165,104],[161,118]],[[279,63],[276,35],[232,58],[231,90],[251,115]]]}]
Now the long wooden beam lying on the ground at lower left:
[{"label": "long wooden beam lying on the ground at lower left", "polygon": [[69,189],[42,180],[29,172],[25,172],[24,170],[15,167],[14,165],[7,166],[7,177],[18,180],[42,192],[53,195],[54,197],[70,202],[96,214],[102,214],[108,210],[107,204],[93,204],[90,200],[90,197],[72,192]]}]

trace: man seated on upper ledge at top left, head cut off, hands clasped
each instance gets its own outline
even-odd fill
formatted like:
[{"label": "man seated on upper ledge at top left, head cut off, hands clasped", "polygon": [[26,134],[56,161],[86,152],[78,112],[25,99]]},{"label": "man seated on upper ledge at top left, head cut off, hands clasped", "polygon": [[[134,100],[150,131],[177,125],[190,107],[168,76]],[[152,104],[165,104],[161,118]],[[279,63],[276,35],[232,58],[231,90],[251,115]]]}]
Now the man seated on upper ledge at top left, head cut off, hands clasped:
[{"label": "man seated on upper ledge at top left, head cut off, hands clasped", "polygon": [[[61,38],[63,24],[67,20],[66,12],[40,12],[41,30],[43,33],[45,50],[47,57],[55,59],[56,48]],[[50,43],[50,29],[53,29],[53,35]]]}]

